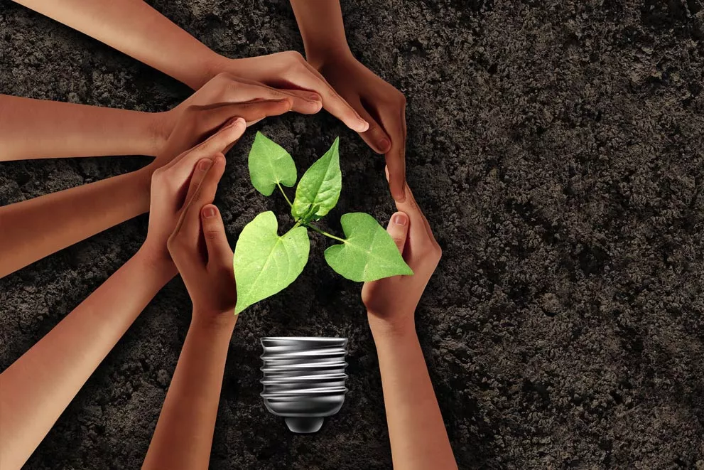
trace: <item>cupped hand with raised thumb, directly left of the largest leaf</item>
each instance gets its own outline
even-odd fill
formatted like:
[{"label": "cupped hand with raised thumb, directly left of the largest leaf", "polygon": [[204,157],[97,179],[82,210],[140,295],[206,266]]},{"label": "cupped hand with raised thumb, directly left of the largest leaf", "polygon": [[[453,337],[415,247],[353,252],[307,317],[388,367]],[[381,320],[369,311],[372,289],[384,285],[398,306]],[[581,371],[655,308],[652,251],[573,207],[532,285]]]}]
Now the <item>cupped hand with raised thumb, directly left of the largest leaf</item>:
[{"label": "cupped hand with raised thumb, directly left of the largest leaf", "polygon": [[209,175],[203,181],[202,191],[188,204],[168,238],[168,251],[193,301],[193,321],[234,326],[237,287],[233,253],[220,211],[210,204],[218,174]]}]

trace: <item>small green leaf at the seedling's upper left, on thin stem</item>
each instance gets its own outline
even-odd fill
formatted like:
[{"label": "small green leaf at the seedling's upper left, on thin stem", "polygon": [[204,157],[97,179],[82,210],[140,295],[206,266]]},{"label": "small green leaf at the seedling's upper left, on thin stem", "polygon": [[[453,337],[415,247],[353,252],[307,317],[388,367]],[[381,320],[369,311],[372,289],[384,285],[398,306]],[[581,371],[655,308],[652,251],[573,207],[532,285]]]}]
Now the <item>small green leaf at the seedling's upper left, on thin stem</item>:
[{"label": "small green leaf at the seedling's upper left, on thin stem", "polygon": [[271,196],[277,184],[290,188],[297,177],[296,164],[286,149],[257,132],[249,151],[249,178],[254,189]]}]

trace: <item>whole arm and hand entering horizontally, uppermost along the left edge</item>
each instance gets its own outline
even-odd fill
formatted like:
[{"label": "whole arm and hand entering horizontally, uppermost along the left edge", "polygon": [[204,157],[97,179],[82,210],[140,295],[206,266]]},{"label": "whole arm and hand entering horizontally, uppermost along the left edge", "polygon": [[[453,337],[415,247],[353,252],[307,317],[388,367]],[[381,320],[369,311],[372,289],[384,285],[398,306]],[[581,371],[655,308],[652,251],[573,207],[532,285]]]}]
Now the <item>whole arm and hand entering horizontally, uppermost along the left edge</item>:
[{"label": "whole arm and hand entering horizontally, uppermost along the left edge", "polygon": [[315,98],[308,92],[276,90],[227,73],[216,75],[166,112],[115,110],[0,95],[0,161],[157,156],[163,153],[175,124],[189,106],[288,99],[299,112],[313,114],[322,106],[320,97]]}]

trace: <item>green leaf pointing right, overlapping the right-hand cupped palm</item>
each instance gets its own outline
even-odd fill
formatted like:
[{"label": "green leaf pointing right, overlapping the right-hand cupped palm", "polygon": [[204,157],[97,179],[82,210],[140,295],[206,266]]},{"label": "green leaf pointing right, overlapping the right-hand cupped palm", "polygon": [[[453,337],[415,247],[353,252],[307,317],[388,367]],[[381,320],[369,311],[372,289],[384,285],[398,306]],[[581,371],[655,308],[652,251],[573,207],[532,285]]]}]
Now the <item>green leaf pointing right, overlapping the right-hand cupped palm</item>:
[{"label": "green leaf pointing right, overlapping the right-hand cupped palm", "polygon": [[391,235],[371,215],[345,214],[340,223],[347,240],[325,250],[325,261],[337,274],[357,282],[413,274]]}]

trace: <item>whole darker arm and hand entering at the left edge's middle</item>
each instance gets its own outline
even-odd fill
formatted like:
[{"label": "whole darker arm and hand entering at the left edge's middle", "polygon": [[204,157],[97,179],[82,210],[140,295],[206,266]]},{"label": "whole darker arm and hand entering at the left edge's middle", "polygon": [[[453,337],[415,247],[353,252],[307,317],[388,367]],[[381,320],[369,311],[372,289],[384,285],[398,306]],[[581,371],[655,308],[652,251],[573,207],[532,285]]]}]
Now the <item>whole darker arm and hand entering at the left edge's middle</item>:
[{"label": "whole darker arm and hand entering at the left edge's middle", "polygon": [[163,154],[143,169],[0,207],[0,277],[145,213],[152,173],[230,119],[256,121],[290,108],[288,99],[190,106]]}]

